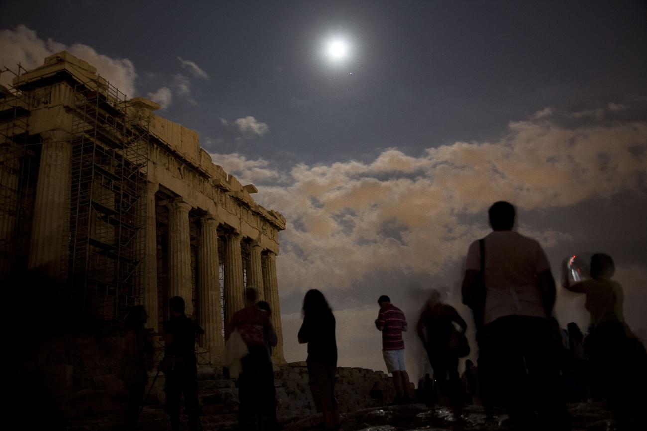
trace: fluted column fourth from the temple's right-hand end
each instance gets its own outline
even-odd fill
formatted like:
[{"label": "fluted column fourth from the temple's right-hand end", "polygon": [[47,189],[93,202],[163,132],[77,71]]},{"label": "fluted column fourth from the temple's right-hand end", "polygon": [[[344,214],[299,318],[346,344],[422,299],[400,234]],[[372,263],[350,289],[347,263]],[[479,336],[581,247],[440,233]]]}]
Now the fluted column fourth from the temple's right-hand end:
[{"label": "fluted column fourth from the temple's right-hand end", "polygon": [[200,345],[209,349],[212,363],[223,353],[217,228],[218,222],[211,215],[202,218],[197,265],[197,317],[204,329]]}]

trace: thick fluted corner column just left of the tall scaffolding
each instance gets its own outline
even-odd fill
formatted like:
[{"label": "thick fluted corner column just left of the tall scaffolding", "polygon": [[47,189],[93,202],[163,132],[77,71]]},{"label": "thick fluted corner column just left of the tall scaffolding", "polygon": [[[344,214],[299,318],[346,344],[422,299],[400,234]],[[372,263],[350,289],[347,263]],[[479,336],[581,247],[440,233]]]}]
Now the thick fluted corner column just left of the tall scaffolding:
[{"label": "thick fluted corner column just left of the tall scaffolding", "polygon": [[41,139],[28,268],[61,279],[69,253],[72,145],[67,132],[43,132]]}]

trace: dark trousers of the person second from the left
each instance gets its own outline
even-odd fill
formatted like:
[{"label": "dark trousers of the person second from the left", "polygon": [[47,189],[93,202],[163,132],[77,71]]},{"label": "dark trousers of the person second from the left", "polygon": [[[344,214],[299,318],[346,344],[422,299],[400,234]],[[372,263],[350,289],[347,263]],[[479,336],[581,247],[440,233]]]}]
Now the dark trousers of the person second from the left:
[{"label": "dark trousers of the person second from the left", "polygon": [[166,373],[164,391],[166,392],[166,412],[171,417],[171,430],[180,429],[182,394],[184,394],[184,408],[189,416],[189,430],[197,430],[199,401],[195,359],[178,364],[172,371]]}]

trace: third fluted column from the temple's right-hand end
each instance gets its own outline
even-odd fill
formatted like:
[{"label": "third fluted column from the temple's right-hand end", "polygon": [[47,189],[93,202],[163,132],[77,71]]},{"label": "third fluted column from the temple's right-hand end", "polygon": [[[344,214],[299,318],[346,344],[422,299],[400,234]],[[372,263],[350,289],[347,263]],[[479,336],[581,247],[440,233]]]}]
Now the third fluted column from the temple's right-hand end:
[{"label": "third fluted column from the temple's right-hand end", "polygon": [[241,235],[230,233],[225,238],[225,327],[237,310],[245,306],[243,292],[243,258]]}]

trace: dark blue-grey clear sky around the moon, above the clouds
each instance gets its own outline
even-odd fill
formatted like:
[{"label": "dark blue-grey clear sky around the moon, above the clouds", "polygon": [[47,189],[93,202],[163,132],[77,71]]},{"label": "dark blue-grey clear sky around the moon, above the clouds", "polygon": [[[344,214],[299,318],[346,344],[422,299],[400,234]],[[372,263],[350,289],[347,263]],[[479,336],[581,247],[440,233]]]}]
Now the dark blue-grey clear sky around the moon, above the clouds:
[{"label": "dark blue-grey clear sky around the moon, above the clouds", "polygon": [[[177,100],[166,116],[210,138],[219,118],[254,116],[271,132],[242,149],[296,162],[489,140],[548,105],[647,92],[644,1],[3,3],[1,28],[131,59],[142,94],[194,61],[209,75],[199,109]],[[335,35],[351,52],[333,65]]]}]

